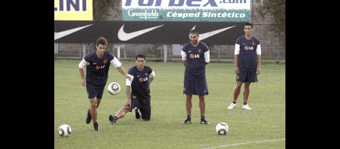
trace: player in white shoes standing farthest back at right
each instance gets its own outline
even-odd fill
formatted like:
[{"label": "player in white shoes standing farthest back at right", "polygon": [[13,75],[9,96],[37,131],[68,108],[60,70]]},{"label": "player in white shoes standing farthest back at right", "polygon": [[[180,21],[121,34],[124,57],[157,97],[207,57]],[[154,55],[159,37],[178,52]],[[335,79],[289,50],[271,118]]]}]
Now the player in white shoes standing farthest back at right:
[{"label": "player in white shoes standing farthest back at right", "polygon": [[237,38],[235,43],[235,73],[236,87],[234,89],[234,99],[228,109],[236,107],[236,100],[244,82],[243,106],[242,109],[251,110],[247,104],[249,96],[249,86],[251,82],[257,82],[257,75],[260,74],[261,45],[260,41],[252,36],[253,25],[244,25],[244,36]]}]

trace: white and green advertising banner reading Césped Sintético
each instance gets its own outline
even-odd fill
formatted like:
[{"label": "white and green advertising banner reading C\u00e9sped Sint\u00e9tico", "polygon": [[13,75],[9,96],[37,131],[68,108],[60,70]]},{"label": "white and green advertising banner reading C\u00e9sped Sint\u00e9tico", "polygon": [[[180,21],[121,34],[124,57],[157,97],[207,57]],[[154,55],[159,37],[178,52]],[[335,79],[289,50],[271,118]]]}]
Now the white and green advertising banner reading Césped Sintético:
[{"label": "white and green advertising banner reading C\u00e9sped Sint\u00e9tico", "polygon": [[122,20],[249,22],[250,0],[122,0]]}]

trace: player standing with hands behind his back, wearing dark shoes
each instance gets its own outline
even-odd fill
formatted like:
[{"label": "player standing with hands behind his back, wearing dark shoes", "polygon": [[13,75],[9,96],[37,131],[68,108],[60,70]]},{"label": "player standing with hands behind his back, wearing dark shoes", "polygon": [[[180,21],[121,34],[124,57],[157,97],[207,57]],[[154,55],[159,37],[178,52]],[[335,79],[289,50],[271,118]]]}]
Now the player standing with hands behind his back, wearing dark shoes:
[{"label": "player standing with hands behind his back, wearing dark shoes", "polygon": [[198,95],[200,100],[201,124],[209,124],[204,117],[205,101],[204,95],[208,95],[208,86],[205,79],[205,65],[210,61],[209,48],[203,42],[198,41],[199,33],[197,30],[191,30],[189,33],[190,42],[183,46],[181,51],[182,60],[185,68],[184,72],[184,90],[186,94],[187,119],[183,124],[191,123],[192,95]]}]

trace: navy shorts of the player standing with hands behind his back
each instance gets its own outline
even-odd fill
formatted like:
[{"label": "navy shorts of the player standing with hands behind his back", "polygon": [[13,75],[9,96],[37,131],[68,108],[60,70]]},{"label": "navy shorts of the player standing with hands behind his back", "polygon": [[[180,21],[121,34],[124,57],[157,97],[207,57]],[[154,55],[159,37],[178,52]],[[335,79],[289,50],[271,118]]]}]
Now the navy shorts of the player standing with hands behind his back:
[{"label": "navy shorts of the player standing with hands behind his back", "polygon": [[184,78],[184,89],[183,94],[191,94],[191,95],[208,95],[208,86],[207,81],[199,80],[193,81]]}]

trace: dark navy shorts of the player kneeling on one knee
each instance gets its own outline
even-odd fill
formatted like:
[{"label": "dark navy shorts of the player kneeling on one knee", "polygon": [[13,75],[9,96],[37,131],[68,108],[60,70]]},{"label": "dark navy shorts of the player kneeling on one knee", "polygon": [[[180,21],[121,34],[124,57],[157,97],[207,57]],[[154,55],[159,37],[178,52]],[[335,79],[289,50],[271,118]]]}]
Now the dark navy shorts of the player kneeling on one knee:
[{"label": "dark navy shorts of the player kneeling on one knee", "polygon": [[[131,96],[131,111],[135,107],[139,108],[140,113],[142,114],[142,119],[150,119],[151,118],[151,99],[139,99],[134,95]],[[130,112],[131,112],[130,111]]]}]

